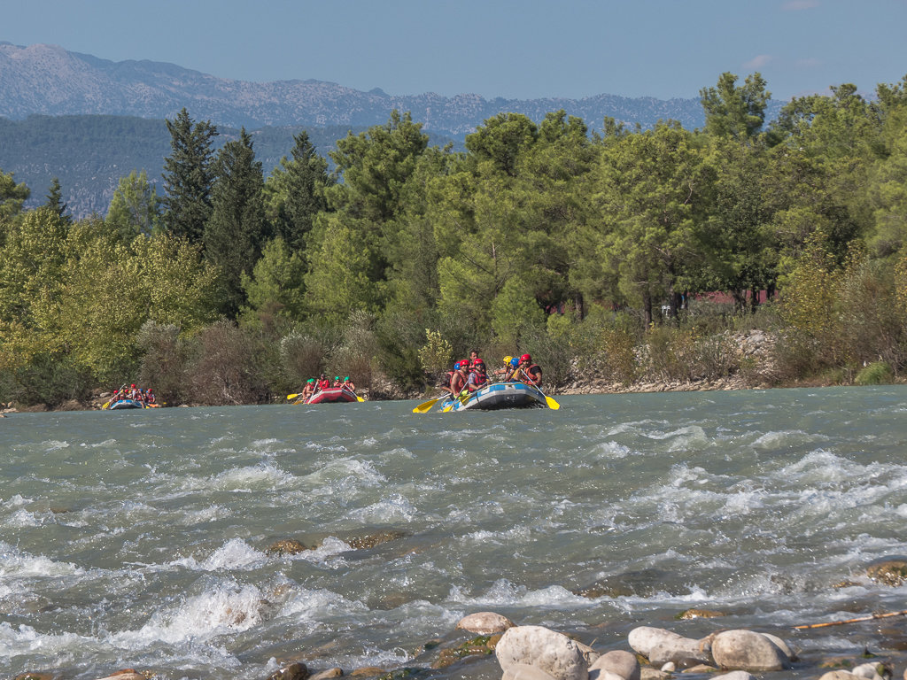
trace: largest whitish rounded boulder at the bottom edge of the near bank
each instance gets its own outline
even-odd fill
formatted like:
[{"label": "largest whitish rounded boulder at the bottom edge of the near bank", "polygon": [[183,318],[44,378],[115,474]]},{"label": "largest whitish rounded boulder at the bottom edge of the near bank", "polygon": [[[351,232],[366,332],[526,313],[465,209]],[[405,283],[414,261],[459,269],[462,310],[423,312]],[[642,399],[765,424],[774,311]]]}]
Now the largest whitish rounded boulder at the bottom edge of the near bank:
[{"label": "largest whitish rounded boulder at the bottom edge of the near bank", "polygon": [[554,680],[588,680],[589,664],[570,637],[541,626],[508,628],[494,647],[504,673],[513,664],[532,665]]}]

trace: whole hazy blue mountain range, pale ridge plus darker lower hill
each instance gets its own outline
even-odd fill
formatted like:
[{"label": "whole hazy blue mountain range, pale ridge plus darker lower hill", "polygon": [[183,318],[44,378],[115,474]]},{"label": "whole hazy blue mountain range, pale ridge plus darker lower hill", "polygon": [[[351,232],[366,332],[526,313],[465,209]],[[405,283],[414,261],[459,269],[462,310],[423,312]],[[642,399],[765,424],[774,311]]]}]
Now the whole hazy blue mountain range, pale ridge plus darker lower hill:
[{"label": "whole hazy blue mountain range, pale ridge plus darker lower hill", "polygon": [[422,122],[430,143],[453,141],[460,149],[468,133],[499,112],[541,121],[563,109],[590,130],[600,130],[606,116],[644,127],[670,118],[693,129],[705,121],[698,98],[393,96],[315,80],[249,83],[172,63],[111,62],[55,45],[0,42],[0,170],[14,172],[32,189],[29,205],[44,202],[54,177],[76,216],[106,212],[117,182],[131,170],[147,170],[150,180],[159,181],[170,153],[163,120],[183,107],[193,120],[215,123],[220,143],[241,126],[254,131],[266,173],[288,154],[297,131],[309,131],[327,156],[347,131],[384,124],[394,109]]}]

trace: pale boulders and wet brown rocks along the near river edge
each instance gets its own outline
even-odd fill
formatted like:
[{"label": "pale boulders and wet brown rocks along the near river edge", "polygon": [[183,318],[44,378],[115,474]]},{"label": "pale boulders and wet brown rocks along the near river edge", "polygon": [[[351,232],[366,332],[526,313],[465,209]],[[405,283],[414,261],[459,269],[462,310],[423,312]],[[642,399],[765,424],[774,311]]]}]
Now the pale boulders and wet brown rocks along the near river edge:
[{"label": "pale boulders and wet brown rocks along the near river edge", "polygon": [[[348,537],[351,544],[368,548],[404,534],[385,531]],[[281,539],[268,554],[281,556],[313,549],[297,539]],[[907,558],[892,557],[869,565],[864,578],[881,588],[907,583]],[[835,584],[845,588],[851,582]],[[469,614],[443,637],[421,643],[406,665],[387,668],[364,666],[343,669],[318,667],[317,659],[271,659],[278,669],[260,680],[327,680],[335,677],[366,680],[907,680],[907,645],[897,628],[878,628],[853,645],[853,653],[830,655],[823,645],[812,645],[810,631],[831,626],[866,624],[886,617],[905,617],[907,610],[873,614],[846,621],[781,629],[766,621],[760,630],[721,627],[726,617],[715,609],[688,609],[676,617],[677,627],[704,633],[687,636],[666,627],[592,627],[566,633],[538,625],[518,625],[493,611]],[[698,623],[697,623],[698,622]],[[690,625],[696,627],[690,628]],[[873,626],[872,623],[869,623]],[[774,631],[774,632],[773,632]],[[616,635],[611,635],[616,632]],[[866,628],[863,627],[863,635]],[[822,635],[827,635],[824,633]],[[835,633],[846,636],[843,629]],[[796,644],[785,636],[795,637]],[[887,639],[886,639],[887,636]],[[584,642],[583,640],[588,640]],[[885,649],[875,654],[873,649]],[[16,675],[14,680],[63,680],[54,671]],[[168,677],[154,669],[124,668],[99,680],[151,680]]]}]

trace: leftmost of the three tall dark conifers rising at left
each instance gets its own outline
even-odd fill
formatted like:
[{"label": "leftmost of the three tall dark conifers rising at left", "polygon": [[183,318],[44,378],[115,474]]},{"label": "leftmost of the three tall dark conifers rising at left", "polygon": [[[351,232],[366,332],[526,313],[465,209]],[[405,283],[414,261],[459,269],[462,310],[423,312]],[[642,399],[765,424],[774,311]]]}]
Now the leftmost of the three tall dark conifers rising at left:
[{"label": "leftmost of the three tall dark conifers rising at left", "polygon": [[173,121],[171,155],[164,159],[164,224],[174,236],[200,243],[211,216],[211,140],[217,128],[211,121],[195,122],[185,108]]}]

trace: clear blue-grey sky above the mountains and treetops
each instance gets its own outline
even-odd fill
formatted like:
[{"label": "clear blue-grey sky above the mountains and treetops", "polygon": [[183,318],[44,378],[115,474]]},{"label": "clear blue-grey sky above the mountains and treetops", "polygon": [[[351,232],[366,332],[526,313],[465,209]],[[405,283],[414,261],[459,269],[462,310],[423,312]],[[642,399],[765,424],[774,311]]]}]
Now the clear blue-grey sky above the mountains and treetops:
[{"label": "clear blue-grey sky above the mountains and treetops", "polygon": [[729,71],[788,100],[907,74],[907,0],[18,0],[0,16],[18,45],[398,95],[691,98]]}]

